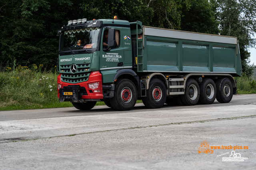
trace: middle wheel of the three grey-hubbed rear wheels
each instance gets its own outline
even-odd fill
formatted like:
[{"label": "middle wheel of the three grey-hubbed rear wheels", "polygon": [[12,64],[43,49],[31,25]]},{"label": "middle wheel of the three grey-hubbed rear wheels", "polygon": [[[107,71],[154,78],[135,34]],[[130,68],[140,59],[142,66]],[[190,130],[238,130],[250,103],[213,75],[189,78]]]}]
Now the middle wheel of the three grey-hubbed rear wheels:
[{"label": "middle wheel of the three grey-hubbed rear wheels", "polygon": [[216,85],[210,78],[205,78],[200,85],[201,104],[212,104],[216,98]]}]

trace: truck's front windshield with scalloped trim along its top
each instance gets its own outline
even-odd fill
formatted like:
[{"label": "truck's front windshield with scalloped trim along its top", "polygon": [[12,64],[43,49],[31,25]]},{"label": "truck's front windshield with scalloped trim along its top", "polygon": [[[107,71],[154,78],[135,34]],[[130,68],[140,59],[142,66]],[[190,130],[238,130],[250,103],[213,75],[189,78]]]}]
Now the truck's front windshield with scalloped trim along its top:
[{"label": "truck's front windshield with scalloped trim along its top", "polygon": [[100,27],[67,30],[60,51],[97,48],[99,33]]}]

